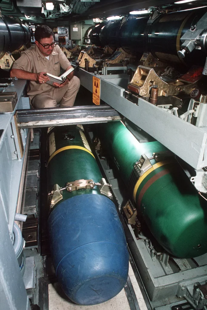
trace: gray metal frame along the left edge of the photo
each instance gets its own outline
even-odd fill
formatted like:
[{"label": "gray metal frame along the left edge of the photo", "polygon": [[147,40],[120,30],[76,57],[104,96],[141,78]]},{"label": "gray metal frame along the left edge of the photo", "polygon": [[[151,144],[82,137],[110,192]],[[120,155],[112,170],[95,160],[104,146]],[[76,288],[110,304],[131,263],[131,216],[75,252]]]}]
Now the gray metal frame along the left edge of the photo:
[{"label": "gray metal frame along the left edge of the photo", "polygon": [[17,205],[20,205],[27,156],[29,130],[22,129],[24,154],[21,158],[14,113],[16,109],[29,108],[29,98],[22,97],[25,80],[14,80],[7,91],[16,91],[18,101],[12,113],[0,113],[0,308],[29,310],[29,299],[20,268],[13,250],[11,237]]}]

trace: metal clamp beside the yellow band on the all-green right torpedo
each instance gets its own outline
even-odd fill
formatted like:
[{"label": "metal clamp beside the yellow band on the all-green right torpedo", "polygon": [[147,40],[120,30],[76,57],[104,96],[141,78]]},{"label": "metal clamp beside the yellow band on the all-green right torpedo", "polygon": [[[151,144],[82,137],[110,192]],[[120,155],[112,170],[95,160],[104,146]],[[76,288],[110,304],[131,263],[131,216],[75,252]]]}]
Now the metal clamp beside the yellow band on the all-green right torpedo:
[{"label": "metal clamp beside the yellow band on the all-green right torpedo", "polygon": [[165,160],[168,157],[173,157],[173,153],[170,151],[153,153],[152,157],[148,158],[145,154],[142,154],[139,161],[133,165],[134,171],[138,177],[142,176],[147,170],[152,168],[151,160],[156,162]]}]

